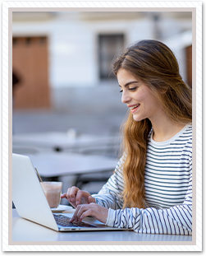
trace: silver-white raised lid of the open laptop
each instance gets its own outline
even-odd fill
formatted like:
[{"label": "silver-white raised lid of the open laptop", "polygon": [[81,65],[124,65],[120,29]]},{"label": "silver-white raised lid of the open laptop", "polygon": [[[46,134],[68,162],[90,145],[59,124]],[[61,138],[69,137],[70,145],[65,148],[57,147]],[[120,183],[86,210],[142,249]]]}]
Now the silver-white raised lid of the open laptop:
[{"label": "silver-white raised lid of the open laptop", "polygon": [[58,230],[29,156],[12,154],[12,199],[19,216]]}]

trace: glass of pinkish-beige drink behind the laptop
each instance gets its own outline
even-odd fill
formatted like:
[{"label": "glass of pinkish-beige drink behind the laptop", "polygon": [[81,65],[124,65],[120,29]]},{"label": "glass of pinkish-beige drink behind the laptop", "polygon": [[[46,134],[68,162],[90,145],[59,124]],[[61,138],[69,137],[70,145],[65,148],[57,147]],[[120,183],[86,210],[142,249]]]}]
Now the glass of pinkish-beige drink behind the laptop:
[{"label": "glass of pinkish-beige drink behind the laptop", "polygon": [[58,181],[43,181],[40,182],[43,193],[45,194],[50,208],[59,206],[62,194],[62,182]]}]

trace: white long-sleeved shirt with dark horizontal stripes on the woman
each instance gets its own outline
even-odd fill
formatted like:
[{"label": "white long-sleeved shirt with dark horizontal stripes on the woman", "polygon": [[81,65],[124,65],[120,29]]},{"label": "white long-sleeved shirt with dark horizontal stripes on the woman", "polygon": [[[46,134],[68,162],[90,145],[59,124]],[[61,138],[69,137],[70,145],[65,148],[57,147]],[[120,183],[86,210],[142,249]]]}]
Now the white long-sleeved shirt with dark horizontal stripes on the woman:
[{"label": "white long-sleeved shirt with dark horizontal stripes on the woman", "polygon": [[98,194],[96,203],[108,207],[107,226],[126,227],[139,233],[192,235],[192,126],[185,125],[166,142],[148,137],[144,172],[145,209],[125,208],[123,158]]}]

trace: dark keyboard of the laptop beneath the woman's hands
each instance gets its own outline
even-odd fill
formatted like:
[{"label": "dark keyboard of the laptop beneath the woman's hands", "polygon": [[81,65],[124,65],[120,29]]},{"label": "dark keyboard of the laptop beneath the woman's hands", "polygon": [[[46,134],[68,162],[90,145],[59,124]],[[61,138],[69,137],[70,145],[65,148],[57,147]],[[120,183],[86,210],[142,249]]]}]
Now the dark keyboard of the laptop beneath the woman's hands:
[{"label": "dark keyboard of the laptop beneath the woman's hands", "polygon": [[70,221],[70,217],[68,216],[64,216],[64,215],[61,215],[61,214],[53,214],[54,216],[54,219],[55,221],[57,222],[57,225],[60,225],[60,226],[70,226],[70,227],[76,227],[76,226],[82,226],[82,227],[97,227],[93,224],[89,224],[89,223],[86,223],[85,221],[80,221],[80,222],[76,222],[76,221],[73,221],[73,222],[69,222]]}]

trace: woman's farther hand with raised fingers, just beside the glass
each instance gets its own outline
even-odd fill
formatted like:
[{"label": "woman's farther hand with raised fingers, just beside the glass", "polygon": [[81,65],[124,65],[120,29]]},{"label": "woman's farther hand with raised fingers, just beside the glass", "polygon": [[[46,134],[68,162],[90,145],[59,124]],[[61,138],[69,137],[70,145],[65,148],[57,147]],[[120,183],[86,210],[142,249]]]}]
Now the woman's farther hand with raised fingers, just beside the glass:
[{"label": "woman's farther hand with raised fingers, just beside the glass", "polygon": [[73,207],[77,207],[79,204],[89,204],[96,202],[89,192],[80,190],[76,187],[71,187],[67,190],[67,193],[62,193],[61,198],[66,198]]}]

